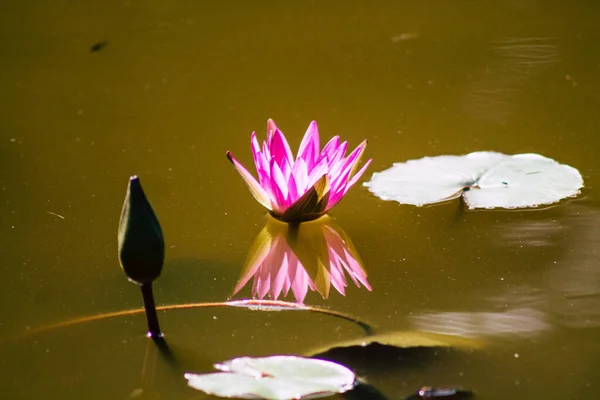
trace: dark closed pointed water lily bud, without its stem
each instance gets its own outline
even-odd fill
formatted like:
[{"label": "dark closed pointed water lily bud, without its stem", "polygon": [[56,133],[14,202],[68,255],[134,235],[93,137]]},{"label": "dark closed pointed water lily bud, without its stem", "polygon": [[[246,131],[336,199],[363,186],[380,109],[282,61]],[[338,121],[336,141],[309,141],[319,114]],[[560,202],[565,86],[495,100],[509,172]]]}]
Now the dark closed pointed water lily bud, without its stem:
[{"label": "dark closed pointed water lily bud, without its stem", "polygon": [[121,268],[130,281],[141,285],[159,277],[165,259],[165,241],[137,176],[130,178],[127,187],[118,246]]}]

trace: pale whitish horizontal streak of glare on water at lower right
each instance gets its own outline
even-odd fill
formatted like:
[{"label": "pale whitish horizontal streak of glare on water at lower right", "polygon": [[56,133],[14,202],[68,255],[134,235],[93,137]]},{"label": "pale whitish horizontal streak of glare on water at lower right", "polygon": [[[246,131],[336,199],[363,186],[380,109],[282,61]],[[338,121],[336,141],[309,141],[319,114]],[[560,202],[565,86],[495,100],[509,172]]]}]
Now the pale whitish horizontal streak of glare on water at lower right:
[{"label": "pale whitish horizontal streak of glare on water at lower right", "polygon": [[419,330],[464,337],[534,336],[550,328],[546,315],[530,308],[505,312],[442,312],[411,317]]}]

